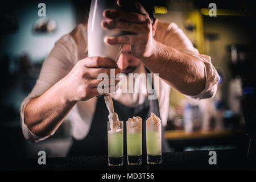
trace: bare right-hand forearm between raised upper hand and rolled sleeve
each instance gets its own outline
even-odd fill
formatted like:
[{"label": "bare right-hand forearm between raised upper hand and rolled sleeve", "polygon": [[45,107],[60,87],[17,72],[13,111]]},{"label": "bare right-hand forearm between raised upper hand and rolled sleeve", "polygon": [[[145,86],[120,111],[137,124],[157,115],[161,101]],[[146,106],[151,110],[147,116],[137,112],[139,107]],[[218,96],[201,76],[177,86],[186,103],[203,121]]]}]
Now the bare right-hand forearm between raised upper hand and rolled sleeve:
[{"label": "bare right-hand forearm between raised upper hand and rolled sleeve", "polygon": [[154,42],[150,57],[141,58],[153,73],[159,73],[169,85],[188,96],[195,96],[205,88],[204,63],[174,48]]}]

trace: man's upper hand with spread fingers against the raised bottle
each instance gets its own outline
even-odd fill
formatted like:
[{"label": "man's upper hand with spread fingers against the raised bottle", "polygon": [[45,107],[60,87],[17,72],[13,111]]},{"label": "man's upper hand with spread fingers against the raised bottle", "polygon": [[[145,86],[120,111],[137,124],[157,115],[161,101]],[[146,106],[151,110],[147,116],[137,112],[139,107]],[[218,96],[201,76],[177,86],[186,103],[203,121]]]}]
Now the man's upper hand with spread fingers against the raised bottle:
[{"label": "man's upper hand with spread fingers against the raised bottle", "polygon": [[[118,3],[118,6],[121,6]],[[136,2],[138,13],[122,10],[105,10],[101,26],[106,29],[116,29],[131,32],[130,35],[105,38],[107,44],[130,44],[131,54],[143,59],[150,57],[155,49],[155,40],[152,35],[152,23],[147,11]]]}]

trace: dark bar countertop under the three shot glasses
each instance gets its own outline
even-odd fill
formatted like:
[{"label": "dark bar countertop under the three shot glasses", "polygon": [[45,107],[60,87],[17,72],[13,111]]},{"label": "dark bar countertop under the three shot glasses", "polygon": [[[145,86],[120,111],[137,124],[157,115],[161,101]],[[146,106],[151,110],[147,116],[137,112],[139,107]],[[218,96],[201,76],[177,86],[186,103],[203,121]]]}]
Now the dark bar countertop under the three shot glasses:
[{"label": "dark bar countertop under the three shot glasses", "polygon": [[216,150],[217,164],[210,165],[209,151],[168,152],[162,155],[162,164],[148,165],[145,159],[141,166],[127,166],[126,155],[122,167],[109,167],[108,156],[77,156],[47,158],[46,165],[39,165],[38,159],[7,162],[2,169],[23,170],[90,170],[90,171],[166,171],[166,170],[256,170],[256,160],[246,159],[246,150]]}]

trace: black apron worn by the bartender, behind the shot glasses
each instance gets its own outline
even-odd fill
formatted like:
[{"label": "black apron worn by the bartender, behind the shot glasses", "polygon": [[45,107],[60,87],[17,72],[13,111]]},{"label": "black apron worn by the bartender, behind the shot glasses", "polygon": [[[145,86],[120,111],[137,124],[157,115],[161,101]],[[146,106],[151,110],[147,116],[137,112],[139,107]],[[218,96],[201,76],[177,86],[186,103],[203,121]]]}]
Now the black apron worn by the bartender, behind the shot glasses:
[{"label": "black apron worn by the bartender, behind the shot glasses", "polygon": [[[146,100],[137,107],[128,107],[113,100],[115,113],[119,121],[123,121],[123,154],[126,154],[126,121],[133,116],[139,116],[142,120],[142,155],[146,156],[146,119],[154,113],[160,118],[158,99]],[[104,97],[97,99],[96,110],[88,135],[82,140],[73,139],[73,144],[68,156],[83,155],[107,155],[108,154],[108,115],[109,111],[105,105]],[[162,152],[169,152],[170,148],[163,137],[162,127]]]}]

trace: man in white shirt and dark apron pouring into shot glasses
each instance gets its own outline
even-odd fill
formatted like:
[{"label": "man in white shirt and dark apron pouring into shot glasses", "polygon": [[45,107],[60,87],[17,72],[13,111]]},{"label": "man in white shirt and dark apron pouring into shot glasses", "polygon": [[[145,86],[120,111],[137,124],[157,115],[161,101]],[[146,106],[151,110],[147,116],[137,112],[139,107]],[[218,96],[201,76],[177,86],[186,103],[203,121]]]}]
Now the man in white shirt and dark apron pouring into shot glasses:
[{"label": "man in white shirt and dark apron pouring into shot glasses", "polygon": [[[124,6],[122,1],[118,6]],[[214,96],[220,78],[210,57],[200,55],[175,23],[156,19],[150,3],[142,6],[137,2],[135,7],[136,13],[105,10],[103,14],[106,20],[101,22],[102,28],[133,33],[105,38],[106,44],[124,45],[117,64],[107,57],[88,57],[86,24],[79,24],[56,42],[34,88],[20,106],[26,139],[39,142],[50,137],[68,116],[73,137],[69,156],[108,154],[109,113],[104,98],[96,96],[100,95],[98,75],[110,76],[110,69],[115,69],[115,75],[159,73],[155,100],[148,100],[144,93],[111,93],[115,112],[124,122],[138,115],[144,123],[152,112],[166,126],[171,88],[197,100]],[[162,151],[167,152],[168,144],[162,140]]]}]

